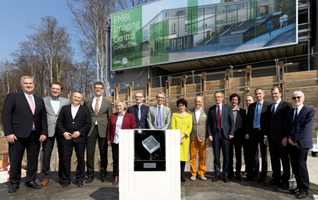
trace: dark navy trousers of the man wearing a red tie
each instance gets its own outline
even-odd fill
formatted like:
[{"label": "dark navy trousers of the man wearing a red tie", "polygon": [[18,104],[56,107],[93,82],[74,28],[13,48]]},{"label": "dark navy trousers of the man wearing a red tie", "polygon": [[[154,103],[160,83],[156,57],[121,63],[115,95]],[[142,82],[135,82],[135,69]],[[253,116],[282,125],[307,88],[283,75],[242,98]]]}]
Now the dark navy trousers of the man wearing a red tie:
[{"label": "dark navy trousers of the man wearing a red tie", "polygon": [[229,172],[229,153],[230,153],[230,141],[225,138],[223,130],[217,131],[215,137],[212,140],[213,145],[213,156],[214,156],[214,172],[218,176],[220,175],[220,150],[222,147],[223,165],[222,172],[224,176],[228,175]]}]

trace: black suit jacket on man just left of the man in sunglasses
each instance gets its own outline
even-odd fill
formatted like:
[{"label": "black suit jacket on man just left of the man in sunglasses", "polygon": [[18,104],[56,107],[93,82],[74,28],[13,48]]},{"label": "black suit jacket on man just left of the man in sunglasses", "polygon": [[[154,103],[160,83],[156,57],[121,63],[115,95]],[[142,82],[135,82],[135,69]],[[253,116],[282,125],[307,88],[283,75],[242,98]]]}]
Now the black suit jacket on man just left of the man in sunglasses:
[{"label": "black suit jacket on man just left of the man in sunglasses", "polygon": [[274,142],[282,142],[282,139],[286,137],[284,130],[286,114],[292,107],[288,102],[281,101],[277,106],[274,117],[271,117],[271,107],[272,104],[267,107],[268,129],[266,129],[265,135]]}]

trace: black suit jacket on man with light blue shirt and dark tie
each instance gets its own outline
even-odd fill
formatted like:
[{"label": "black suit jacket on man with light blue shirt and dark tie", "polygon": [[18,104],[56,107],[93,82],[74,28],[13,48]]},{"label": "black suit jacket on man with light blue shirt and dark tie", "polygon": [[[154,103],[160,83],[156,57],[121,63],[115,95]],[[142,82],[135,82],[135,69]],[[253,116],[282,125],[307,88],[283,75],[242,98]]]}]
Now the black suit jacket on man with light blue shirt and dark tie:
[{"label": "black suit jacket on man with light blue shirt and dark tie", "polygon": [[[257,102],[250,104],[248,106],[247,116],[246,116],[246,134],[251,134],[253,129],[254,123],[254,115],[255,115],[255,107]],[[267,107],[270,106],[269,102],[263,103],[262,111],[261,111],[261,118],[260,118],[260,125],[261,125],[261,132],[263,136],[267,133]]]}]

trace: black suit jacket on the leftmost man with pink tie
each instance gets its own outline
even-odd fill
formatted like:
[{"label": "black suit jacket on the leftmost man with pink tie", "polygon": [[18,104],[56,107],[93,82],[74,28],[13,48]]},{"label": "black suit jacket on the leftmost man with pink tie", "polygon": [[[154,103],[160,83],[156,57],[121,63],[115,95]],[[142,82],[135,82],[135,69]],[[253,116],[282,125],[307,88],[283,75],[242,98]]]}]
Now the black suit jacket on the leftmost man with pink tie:
[{"label": "black suit jacket on the leftmost man with pink tie", "polygon": [[43,99],[33,95],[35,102],[34,115],[24,92],[7,95],[2,111],[2,123],[5,136],[14,134],[16,137],[30,136],[33,121],[37,137],[48,136],[47,112]]}]

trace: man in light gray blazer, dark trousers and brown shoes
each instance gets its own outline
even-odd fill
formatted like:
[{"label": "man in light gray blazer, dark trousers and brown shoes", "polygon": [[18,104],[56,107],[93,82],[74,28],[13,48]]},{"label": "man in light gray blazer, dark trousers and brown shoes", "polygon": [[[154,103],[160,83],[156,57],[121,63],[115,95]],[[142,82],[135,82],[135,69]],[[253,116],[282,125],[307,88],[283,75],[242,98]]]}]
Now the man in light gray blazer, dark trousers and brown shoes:
[{"label": "man in light gray blazer, dark trousers and brown shoes", "polygon": [[48,118],[48,133],[49,136],[46,141],[42,143],[42,150],[43,150],[43,161],[42,161],[42,177],[43,181],[41,185],[47,185],[50,180],[50,161],[51,155],[53,151],[53,146],[56,138],[57,142],[57,149],[58,149],[58,156],[59,156],[59,163],[58,163],[58,177],[59,182],[63,183],[62,178],[62,148],[60,143],[60,136],[57,133],[56,129],[56,120],[60,113],[62,106],[69,105],[70,101],[66,98],[60,96],[63,90],[62,84],[59,82],[53,82],[50,84],[50,91],[51,95],[44,97],[44,105],[46,106],[47,110],[47,118]]}]

